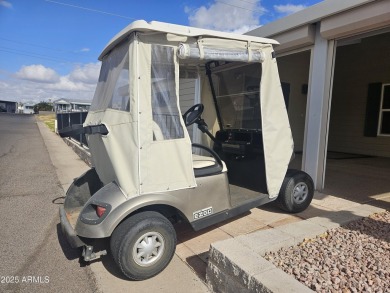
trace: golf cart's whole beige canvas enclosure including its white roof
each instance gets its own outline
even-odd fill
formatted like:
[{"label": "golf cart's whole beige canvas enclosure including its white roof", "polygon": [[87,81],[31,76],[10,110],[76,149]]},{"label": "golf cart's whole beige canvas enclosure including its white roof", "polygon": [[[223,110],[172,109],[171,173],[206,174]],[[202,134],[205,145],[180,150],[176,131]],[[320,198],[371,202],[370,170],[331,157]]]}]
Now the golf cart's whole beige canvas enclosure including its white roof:
[{"label": "golf cart's whole beige canvas enclosure including its white roof", "polygon": [[108,130],[87,136],[102,182],[116,182],[127,197],[196,187],[191,139],[179,105],[181,74],[198,76],[208,108],[205,120],[215,132],[212,93],[200,69],[212,60],[261,63],[265,175],[268,194],[277,196],[293,141],[272,44],[277,43],[159,22],[137,21],[125,28],[100,56],[102,69],[84,123]]}]

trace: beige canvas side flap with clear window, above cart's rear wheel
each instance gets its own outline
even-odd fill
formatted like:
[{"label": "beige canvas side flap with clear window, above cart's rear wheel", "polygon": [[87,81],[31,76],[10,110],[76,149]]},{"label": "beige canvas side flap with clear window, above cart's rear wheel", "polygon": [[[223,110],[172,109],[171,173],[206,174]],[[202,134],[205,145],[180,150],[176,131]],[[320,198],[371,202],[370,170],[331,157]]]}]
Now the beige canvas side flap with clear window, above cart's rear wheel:
[{"label": "beige canvas side flap with clear window, above cart's rear wheel", "polygon": [[191,141],[179,107],[177,48],[139,37],[140,193],[195,187]]}]

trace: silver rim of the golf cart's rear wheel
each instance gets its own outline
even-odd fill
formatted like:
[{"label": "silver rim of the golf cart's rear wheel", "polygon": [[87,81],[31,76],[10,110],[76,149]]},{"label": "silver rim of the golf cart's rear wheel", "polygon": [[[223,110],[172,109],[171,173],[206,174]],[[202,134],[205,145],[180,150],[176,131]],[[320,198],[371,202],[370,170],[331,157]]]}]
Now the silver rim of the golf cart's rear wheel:
[{"label": "silver rim of the golf cart's rear wheel", "polygon": [[134,261],[142,267],[155,264],[164,252],[164,242],[164,237],[158,232],[142,235],[133,247]]}]

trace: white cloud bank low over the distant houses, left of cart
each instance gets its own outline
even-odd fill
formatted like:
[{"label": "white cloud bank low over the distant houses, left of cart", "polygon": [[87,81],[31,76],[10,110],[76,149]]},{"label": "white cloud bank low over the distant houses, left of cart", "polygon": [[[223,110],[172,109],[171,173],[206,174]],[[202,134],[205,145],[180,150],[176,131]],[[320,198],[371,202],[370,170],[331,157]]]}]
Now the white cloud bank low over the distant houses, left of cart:
[{"label": "white cloud bank low over the distant houses, left of cart", "polygon": [[99,72],[100,63],[79,65],[62,76],[40,64],[23,66],[16,74],[2,74],[0,100],[29,103],[60,98],[91,100]]}]

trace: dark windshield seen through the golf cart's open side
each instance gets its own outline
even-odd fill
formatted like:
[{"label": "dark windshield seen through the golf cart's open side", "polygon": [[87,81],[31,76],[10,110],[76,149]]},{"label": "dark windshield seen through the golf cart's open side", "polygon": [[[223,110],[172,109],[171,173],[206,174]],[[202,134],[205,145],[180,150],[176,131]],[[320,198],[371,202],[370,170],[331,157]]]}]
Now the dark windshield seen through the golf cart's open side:
[{"label": "dark windshield seen through the golf cart's open side", "polygon": [[223,129],[261,129],[260,113],[261,64],[234,64],[213,70]]}]

